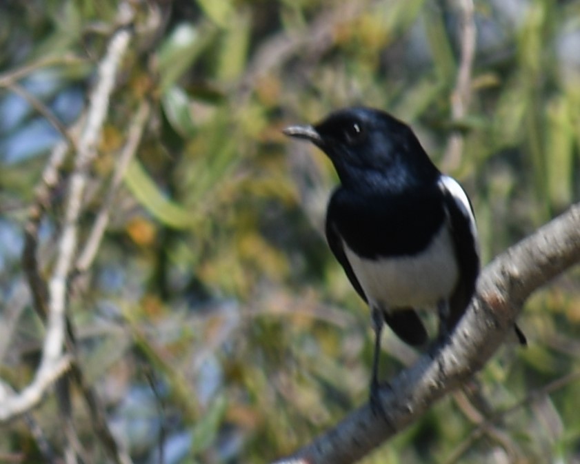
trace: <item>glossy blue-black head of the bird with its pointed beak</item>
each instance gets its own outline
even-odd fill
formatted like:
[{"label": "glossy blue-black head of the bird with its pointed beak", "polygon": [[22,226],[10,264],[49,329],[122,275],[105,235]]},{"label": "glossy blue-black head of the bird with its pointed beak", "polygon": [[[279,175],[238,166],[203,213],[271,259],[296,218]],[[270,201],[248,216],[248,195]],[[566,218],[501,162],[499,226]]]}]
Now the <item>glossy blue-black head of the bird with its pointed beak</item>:
[{"label": "glossy blue-black head of the bird with its pointed beak", "polygon": [[283,133],[323,150],[343,185],[408,185],[439,174],[410,127],[381,110],[346,108],[314,125],[291,125]]}]

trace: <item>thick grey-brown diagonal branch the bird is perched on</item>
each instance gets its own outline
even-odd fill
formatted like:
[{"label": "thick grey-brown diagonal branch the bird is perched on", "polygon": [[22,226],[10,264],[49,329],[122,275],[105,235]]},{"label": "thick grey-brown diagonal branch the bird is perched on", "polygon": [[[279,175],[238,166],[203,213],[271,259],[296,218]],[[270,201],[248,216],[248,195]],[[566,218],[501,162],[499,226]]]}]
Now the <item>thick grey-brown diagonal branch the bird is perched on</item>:
[{"label": "thick grey-brown diagonal branch the bird is perched on", "polygon": [[368,454],[480,370],[513,330],[528,296],[578,262],[580,203],[486,266],[477,294],[450,339],[439,350],[423,354],[381,390],[388,422],[364,405],[278,463],[347,464]]}]

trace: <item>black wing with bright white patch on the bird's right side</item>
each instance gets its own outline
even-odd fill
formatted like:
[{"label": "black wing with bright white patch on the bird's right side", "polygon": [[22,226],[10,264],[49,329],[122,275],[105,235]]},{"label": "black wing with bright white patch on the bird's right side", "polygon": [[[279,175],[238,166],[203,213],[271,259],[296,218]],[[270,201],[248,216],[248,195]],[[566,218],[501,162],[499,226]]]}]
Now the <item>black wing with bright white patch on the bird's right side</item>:
[{"label": "black wing with bright white patch on the bird's right side", "polygon": [[479,241],[473,209],[461,185],[449,176],[441,176],[439,187],[443,192],[443,201],[459,266],[459,282],[449,301],[448,326],[452,329],[463,316],[475,291],[479,274]]}]

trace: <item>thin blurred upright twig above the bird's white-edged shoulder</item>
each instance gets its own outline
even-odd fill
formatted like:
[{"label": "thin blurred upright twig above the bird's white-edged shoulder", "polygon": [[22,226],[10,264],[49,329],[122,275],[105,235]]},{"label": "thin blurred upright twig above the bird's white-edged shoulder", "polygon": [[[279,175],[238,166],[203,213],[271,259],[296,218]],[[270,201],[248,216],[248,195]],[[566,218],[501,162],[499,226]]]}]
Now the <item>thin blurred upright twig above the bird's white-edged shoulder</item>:
[{"label": "thin blurred upright twig above the bird's white-edged shoulder", "polygon": [[[452,121],[463,119],[468,112],[471,100],[471,74],[477,44],[473,0],[459,0],[459,10],[461,61],[457,71],[457,82],[451,94]],[[443,168],[446,171],[456,169],[461,162],[462,152],[463,134],[454,132],[448,140],[445,156],[443,157]]]}]

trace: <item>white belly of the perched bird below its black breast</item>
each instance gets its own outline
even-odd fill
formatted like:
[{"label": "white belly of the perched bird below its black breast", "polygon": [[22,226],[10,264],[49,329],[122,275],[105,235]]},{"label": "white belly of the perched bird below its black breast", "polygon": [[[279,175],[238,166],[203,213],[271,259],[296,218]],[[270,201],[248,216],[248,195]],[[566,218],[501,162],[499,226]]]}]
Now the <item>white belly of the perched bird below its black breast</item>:
[{"label": "white belly of the perched bird below its black breast", "polygon": [[445,224],[426,250],[413,256],[361,259],[346,243],[344,250],[368,303],[386,310],[434,307],[457,284],[458,269],[452,237]]}]

